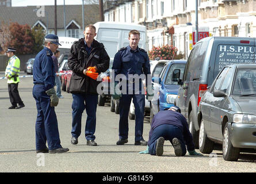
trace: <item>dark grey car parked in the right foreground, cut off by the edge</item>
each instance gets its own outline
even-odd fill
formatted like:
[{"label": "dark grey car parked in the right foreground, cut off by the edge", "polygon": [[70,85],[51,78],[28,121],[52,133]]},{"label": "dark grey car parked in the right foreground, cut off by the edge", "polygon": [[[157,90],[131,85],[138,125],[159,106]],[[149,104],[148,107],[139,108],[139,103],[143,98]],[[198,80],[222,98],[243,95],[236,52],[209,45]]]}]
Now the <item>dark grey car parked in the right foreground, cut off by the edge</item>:
[{"label": "dark grey car parked in the right foreground, cut off by the edge", "polygon": [[256,152],[256,64],[226,66],[202,95],[199,150],[209,154],[213,143],[223,145],[224,160],[240,152]]}]

